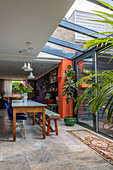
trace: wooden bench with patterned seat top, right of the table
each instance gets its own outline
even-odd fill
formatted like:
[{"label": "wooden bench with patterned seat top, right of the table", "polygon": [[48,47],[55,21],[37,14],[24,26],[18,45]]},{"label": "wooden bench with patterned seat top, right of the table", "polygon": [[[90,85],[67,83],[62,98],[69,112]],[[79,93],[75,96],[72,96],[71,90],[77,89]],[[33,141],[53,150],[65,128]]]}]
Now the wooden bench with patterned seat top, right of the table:
[{"label": "wooden bench with patterned seat top, right of the table", "polygon": [[[49,136],[50,132],[56,132],[56,135],[58,135],[58,126],[57,126],[57,120],[60,119],[60,115],[58,113],[55,113],[51,110],[45,109],[45,114],[46,114],[46,126],[47,126],[47,136]],[[41,123],[41,113],[38,113],[38,124],[40,125]],[[55,130],[53,130],[51,126],[51,120],[54,120],[55,122]]]}]

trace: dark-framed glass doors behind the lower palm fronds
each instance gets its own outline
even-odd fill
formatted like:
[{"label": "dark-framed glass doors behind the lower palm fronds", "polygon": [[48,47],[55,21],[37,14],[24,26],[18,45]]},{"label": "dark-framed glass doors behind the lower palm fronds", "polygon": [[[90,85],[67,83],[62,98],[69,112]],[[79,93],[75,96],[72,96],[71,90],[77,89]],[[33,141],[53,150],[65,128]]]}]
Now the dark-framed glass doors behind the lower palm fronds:
[{"label": "dark-framed glass doors behind the lower palm fronds", "polygon": [[[96,55],[92,55],[86,59],[80,60],[76,64],[77,71],[77,80],[80,78],[89,75],[91,70],[103,71],[103,70],[112,70],[113,69],[113,60],[108,64],[110,57],[109,56],[101,56],[96,57]],[[87,88],[88,84],[92,81],[90,79],[87,82],[82,82],[77,91],[77,97],[79,97],[84,90]],[[97,79],[98,82],[98,79]],[[110,124],[107,124],[107,113],[108,109],[104,114],[102,119],[102,113],[104,109],[104,105],[99,109],[98,114],[95,116],[89,111],[89,106],[86,106],[87,98],[81,102],[78,108],[77,119],[78,123],[83,124],[91,129],[94,129],[97,132],[101,132],[107,136],[113,137],[113,116],[110,120]]]}]

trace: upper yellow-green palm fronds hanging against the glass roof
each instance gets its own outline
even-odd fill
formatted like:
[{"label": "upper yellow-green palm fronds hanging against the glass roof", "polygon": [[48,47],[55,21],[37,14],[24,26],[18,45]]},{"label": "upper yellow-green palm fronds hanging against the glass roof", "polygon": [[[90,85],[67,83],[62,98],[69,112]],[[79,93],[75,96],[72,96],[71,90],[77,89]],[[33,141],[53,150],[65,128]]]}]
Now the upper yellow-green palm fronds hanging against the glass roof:
[{"label": "upper yellow-green palm fronds hanging against the glass roof", "polygon": [[[113,7],[103,1],[99,1],[100,3],[102,3],[103,5],[105,5],[106,7],[108,7],[109,9],[113,10]],[[102,11],[95,11],[95,15],[99,16],[101,19],[100,20],[91,20],[91,21],[96,21],[96,22],[103,22],[105,24],[110,24],[111,27],[113,28],[113,14],[109,14],[107,12],[102,12]],[[84,45],[84,49],[91,49],[95,46],[101,46],[103,48],[100,49],[100,51],[98,52],[101,52],[104,50],[104,52],[102,52],[101,55],[103,55],[104,53],[108,52],[110,49],[113,48],[113,31],[109,31],[109,32],[100,32],[100,33],[95,33],[95,34],[103,34],[103,37],[102,38],[95,38],[95,39],[92,39],[92,40],[87,40],[87,41],[84,41],[82,42]],[[92,34],[92,35],[95,35],[95,34]],[[100,56],[101,56],[100,55]],[[111,57],[110,61],[113,59],[113,56]],[[109,62],[110,62],[109,61]]]}]

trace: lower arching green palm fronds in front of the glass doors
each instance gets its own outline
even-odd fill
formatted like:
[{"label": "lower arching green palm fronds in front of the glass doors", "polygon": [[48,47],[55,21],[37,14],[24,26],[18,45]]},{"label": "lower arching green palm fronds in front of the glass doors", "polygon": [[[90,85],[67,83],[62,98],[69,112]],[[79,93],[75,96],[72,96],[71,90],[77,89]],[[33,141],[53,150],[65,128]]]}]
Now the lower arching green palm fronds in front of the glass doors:
[{"label": "lower arching green palm fronds in front of the glass doors", "polygon": [[81,82],[87,81],[87,78],[98,77],[98,81],[92,82],[83,92],[83,94],[78,97],[75,102],[75,113],[79,107],[79,104],[87,98],[86,106],[89,106],[89,110],[96,114],[100,107],[105,105],[105,109],[102,113],[102,118],[105,113],[106,108],[109,106],[109,111],[107,115],[108,123],[110,122],[111,115],[113,113],[113,71],[107,70],[103,72],[97,72],[95,74],[85,76],[76,82],[76,86],[79,86]]}]

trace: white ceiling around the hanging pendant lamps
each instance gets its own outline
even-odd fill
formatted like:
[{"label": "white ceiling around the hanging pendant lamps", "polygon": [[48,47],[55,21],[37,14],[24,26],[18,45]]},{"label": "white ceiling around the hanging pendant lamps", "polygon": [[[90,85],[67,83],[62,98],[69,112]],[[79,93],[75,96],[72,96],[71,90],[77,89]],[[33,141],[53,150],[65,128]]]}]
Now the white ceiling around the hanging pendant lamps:
[{"label": "white ceiling around the hanging pendant lamps", "polygon": [[[0,0],[0,79],[25,78],[26,73],[21,70],[24,57],[19,51],[25,49],[25,43],[30,41],[34,48],[33,57],[37,58],[73,2],[74,0]],[[46,54],[44,56],[48,57]],[[42,74],[41,70],[46,72],[56,66],[55,62],[49,62],[40,67],[43,60],[39,59],[33,64],[36,77]]]}]

